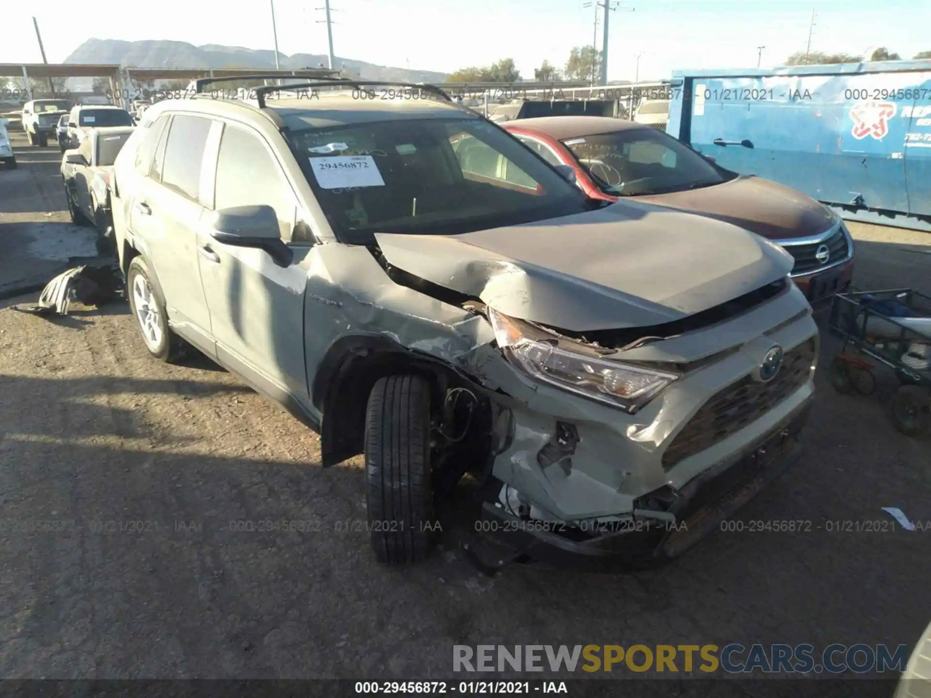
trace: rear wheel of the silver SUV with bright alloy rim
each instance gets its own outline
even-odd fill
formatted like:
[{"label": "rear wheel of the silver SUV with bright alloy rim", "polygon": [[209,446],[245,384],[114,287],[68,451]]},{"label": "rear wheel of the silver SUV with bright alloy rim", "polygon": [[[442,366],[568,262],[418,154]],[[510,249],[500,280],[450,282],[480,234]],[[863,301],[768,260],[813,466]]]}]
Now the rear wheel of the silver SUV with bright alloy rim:
[{"label": "rear wheel of the silver SUV with bright alloy rim", "polygon": [[142,334],[146,350],[159,361],[173,364],[187,354],[187,342],[169,328],[169,315],[154,283],[152,272],[142,257],[129,262],[126,275],[129,308]]}]

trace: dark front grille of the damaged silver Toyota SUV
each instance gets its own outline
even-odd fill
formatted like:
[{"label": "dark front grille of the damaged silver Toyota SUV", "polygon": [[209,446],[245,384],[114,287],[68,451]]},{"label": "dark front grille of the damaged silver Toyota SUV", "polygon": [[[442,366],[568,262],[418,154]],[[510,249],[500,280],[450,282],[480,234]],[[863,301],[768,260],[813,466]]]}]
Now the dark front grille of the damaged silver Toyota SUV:
[{"label": "dark front grille of the damaged silver Toyota SUV", "polygon": [[803,342],[785,353],[782,368],[769,383],[744,376],[713,396],[692,420],[672,439],[663,453],[663,468],[669,470],[680,461],[709,449],[735,434],[801,388],[815,363],[816,342]]}]

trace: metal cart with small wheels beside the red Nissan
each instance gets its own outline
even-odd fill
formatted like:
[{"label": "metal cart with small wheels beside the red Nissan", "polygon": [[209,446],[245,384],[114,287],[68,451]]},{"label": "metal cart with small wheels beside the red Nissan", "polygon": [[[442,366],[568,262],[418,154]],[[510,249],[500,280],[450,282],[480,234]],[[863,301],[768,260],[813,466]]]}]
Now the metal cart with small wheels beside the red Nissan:
[{"label": "metal cart with small wheels beside the red Nissan", "polygon": [[898,431],[917,436],[931,423],[931,296],[914,289],[853,291],[834,296],[830,333],[843,339],[830,365],[830,383],[844,395],[876,389],[875,364],[895,370],[889,405]]}]

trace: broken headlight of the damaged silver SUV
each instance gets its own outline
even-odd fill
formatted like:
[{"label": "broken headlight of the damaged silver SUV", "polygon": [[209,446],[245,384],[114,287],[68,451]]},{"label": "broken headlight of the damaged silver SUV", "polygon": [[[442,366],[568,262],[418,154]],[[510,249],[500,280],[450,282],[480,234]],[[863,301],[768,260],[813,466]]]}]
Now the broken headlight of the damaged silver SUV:
[{"label": "broken headlight of the damaged silver SUV", "polygon": [[558,346],[556,335],[547,335],[533,325],[501,315],[492,308],[488,309],[488,317],[498,346],[511,363],[539,381],[608,403],[630,414],[679,379],[676,373],[567,350],[565,342]]}]

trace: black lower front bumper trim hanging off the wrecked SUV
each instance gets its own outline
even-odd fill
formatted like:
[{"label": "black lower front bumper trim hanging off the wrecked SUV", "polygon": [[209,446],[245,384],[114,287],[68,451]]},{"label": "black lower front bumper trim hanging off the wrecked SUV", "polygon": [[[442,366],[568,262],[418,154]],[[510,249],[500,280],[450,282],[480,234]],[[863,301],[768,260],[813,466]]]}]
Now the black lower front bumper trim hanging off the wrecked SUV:
[{"label": "black lower front bumper trim hanging off the wrecked SUV", "polygon": [[477,529],[506,545],[511,557],[525,555],[578,570],[643,568],[679,557],[799,459],[801,431],[811,404],[808,397],[789,420],[681,490],[662,488],[646,495],[642,502],[663,500],[671,505],[664,510],[635,509],[613,530],[527,521],[506,511],[502,503],[491,502],[484,503]]}]

